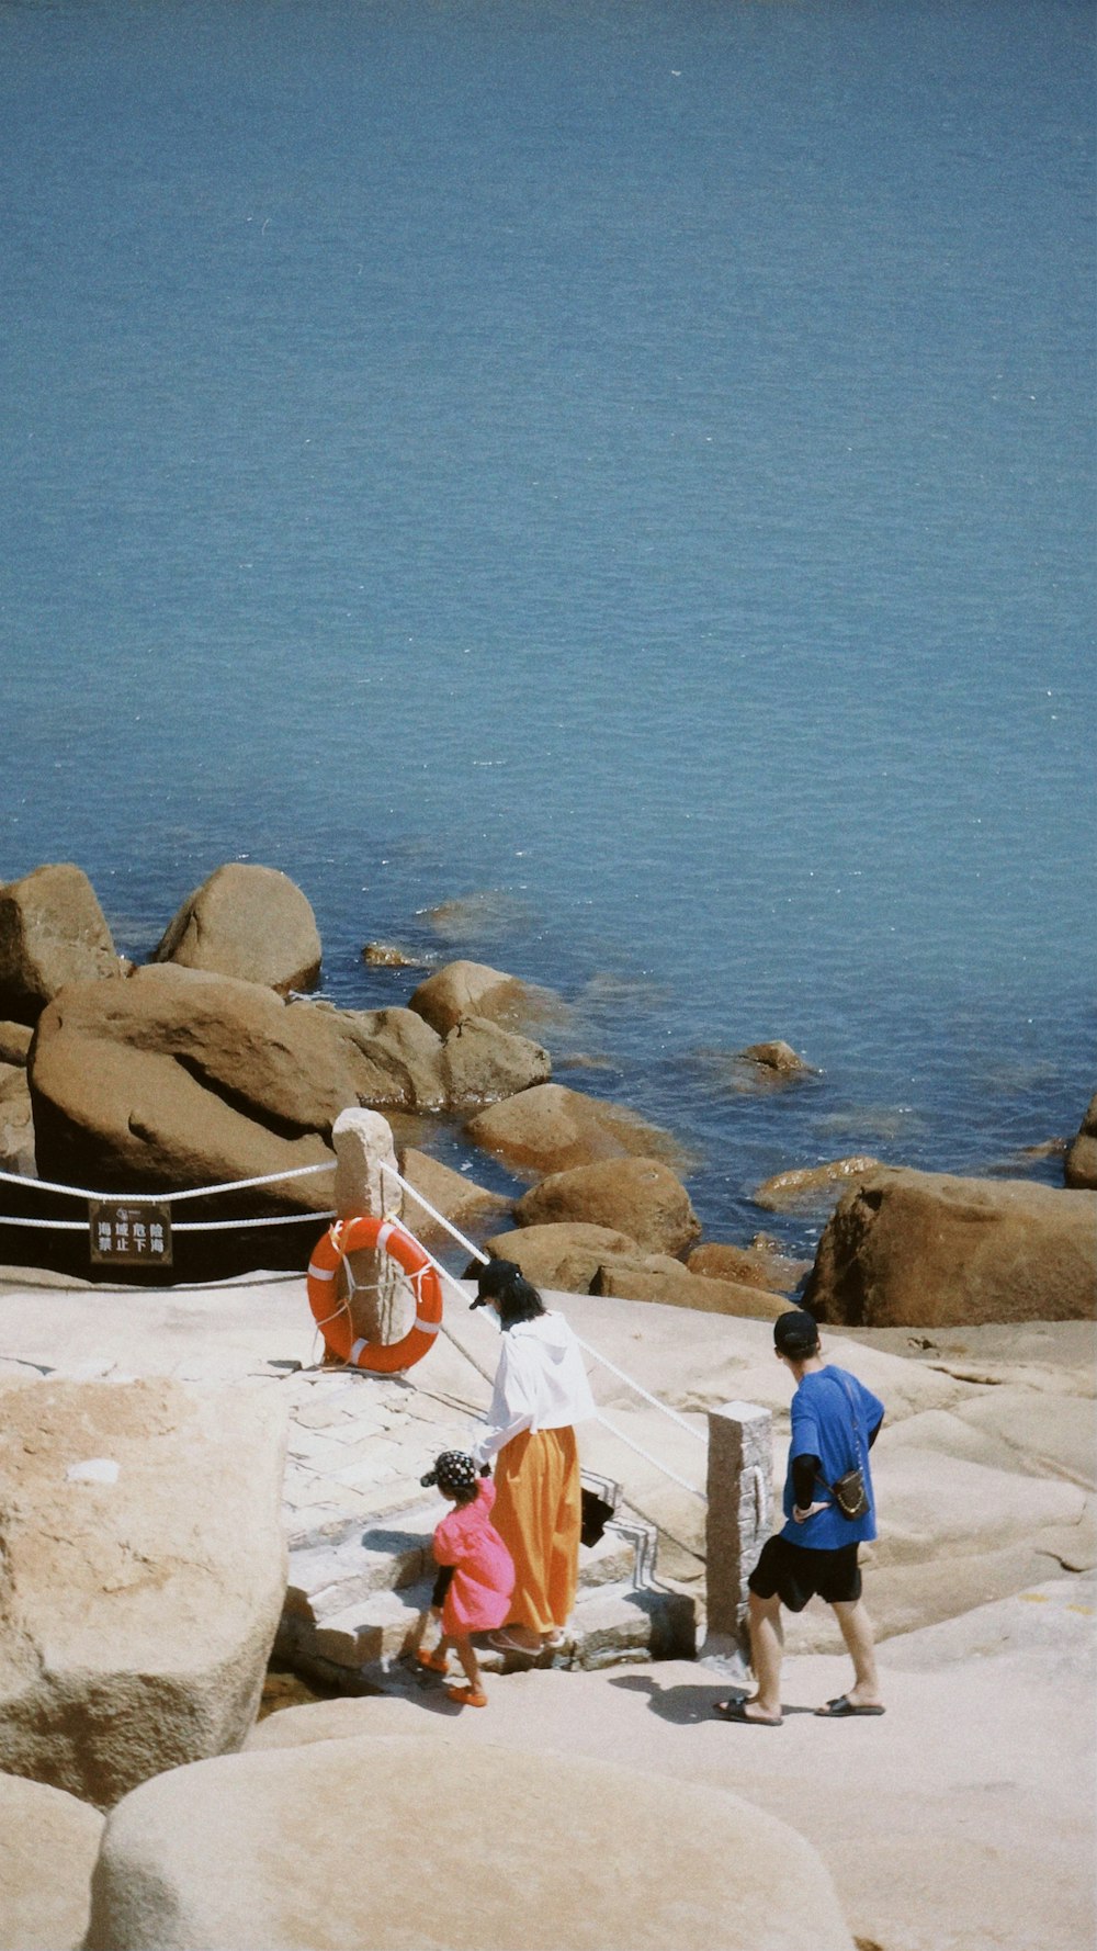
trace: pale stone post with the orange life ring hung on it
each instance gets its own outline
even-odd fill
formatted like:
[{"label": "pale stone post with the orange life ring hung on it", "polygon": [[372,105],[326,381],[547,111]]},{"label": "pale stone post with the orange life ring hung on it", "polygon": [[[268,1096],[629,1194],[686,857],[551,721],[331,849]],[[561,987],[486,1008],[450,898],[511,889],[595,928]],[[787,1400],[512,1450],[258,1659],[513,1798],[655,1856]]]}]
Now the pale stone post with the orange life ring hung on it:
[{"label": "pale stone post with the orange life ring hung on it", "polygon": [[[396,1171],[392,1126],[377,1110],[342,1110],[332,1128],[336,1147],[336,1214],[381,1219],[404,1210],[404,1190],[381,1167]],[[349,1311],[355,1336],[400,1340],[412,1325],[416,1299],[408,1276],[386,1253],[351,1253]],[[342,1288],[340,1288],[342,1292]]]}]

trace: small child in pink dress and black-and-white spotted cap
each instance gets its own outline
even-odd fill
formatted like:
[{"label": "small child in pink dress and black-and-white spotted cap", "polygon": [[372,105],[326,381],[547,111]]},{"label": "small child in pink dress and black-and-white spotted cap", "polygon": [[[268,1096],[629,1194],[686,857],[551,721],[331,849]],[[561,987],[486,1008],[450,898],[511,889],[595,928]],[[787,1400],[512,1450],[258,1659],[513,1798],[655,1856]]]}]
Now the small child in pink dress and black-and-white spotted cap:
[{"label": "small child in pink dress and black-and-white spotted cap", "polygon": [[435,1619],[441,1617],[441,1639],[433,1652],[420,1652],[424,1619],[410,1652],[420,1666],[443,1674],[453,1647],[468,1686],[447,1688],[449,1699],[461,1707],[486,1707],[488,1695],[480,1686],[476,1649],[468,1635],[504,1623],[515,1578],[513,1559],[492,1524],[496,1487],[486,1475],[480,1479],[480,1467],[461,1450],[443,1450],[433,1469],[420,1481],[437,1483],[455,1508],[433,1533],[433,1555],[441,1573],[435,1580],[431,1613]]}]

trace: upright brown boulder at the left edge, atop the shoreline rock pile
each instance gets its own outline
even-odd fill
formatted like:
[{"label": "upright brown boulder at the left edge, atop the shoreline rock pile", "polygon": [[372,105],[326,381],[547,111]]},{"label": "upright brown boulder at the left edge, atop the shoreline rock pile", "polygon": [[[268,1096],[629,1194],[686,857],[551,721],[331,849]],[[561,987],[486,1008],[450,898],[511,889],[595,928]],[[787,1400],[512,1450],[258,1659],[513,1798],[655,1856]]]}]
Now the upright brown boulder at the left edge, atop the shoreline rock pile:
[{"label": "upright brown boulder at the left edge, atop the shoreline rock pile", "polygon": [[37,1022],[72,981],[117,976],[119,958],[88,876],[39,866],[0,888],[0,1015]]}]

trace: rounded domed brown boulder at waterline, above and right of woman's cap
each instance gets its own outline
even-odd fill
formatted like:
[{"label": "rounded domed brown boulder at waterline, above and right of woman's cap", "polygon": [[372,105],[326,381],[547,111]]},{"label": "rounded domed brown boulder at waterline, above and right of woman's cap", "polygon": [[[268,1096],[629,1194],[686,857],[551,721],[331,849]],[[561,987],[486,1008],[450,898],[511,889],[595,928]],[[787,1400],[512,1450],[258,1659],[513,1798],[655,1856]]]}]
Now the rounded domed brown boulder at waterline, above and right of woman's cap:
[{"label": "rounded domed brown boulder at waterline, above and right of woman's cap", "polygon": [[660,1159],[599,1159],[550,1173],[519,1198],[513,1217],[517,1225],[605,1225],[646,1253],[679,1253],[701,1231],[689,1192]]}]

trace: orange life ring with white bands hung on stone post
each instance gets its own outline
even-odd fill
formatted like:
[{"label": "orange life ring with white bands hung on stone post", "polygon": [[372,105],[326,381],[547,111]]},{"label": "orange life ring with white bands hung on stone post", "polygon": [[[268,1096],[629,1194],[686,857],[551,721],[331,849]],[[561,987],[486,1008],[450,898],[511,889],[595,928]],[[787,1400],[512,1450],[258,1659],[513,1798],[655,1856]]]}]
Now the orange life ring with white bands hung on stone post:
[{"label": "orange life ring with white bands hung on stone post", "polygon": [[[359,1247],[375,1247],[379,1253],[392,1254],[396,1264],[412,1276],[416,1319],[398,1342],[355,1338],[347,1303],[332,1307],[336,1268],[347,1253],[357,1253]],[[420,1362],[433,1346],[441,1327],[441,1280],[418,1239],[406,1233],[396,1219],[371,1219],[365,1214],[357,1219],[336,1219],[316,1241],[308,1260],[306,1286],[312,1319],[330,1352],[340,1362],[347,1362],[349,1368],[367,1368],[375,1375],[394,1375],[402,1368],[412,1368],[412,1362]]]}]

